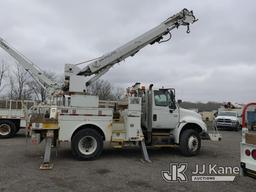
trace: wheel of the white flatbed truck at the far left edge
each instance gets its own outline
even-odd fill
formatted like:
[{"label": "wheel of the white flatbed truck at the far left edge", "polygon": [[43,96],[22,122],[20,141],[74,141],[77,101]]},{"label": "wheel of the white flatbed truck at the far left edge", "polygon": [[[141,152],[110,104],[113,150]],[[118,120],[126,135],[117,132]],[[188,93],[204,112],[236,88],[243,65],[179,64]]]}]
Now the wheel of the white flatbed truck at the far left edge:
[{"label": "wheel of the white flatbed truck at the far left edge", "polygon": [[1,120],[0,121],[0,138],[11,138],[17,132],[15,123],[10,120]]}]

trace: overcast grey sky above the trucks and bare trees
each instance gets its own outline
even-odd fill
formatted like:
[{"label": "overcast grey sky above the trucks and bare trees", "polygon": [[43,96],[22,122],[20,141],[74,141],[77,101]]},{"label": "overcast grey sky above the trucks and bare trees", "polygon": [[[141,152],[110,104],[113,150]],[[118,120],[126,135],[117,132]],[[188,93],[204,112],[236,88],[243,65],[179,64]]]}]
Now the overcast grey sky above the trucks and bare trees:
[{"label": "overcast grey sky above the trucks and bare trees", "polygon": [[175,87],[186,101],[255,101],[253,0],[2,0],[0,37],[42,69],[62,73],[65,63],[110,52],[183,8],[199,19],[190,34],[174,30],[171,41],[147,46],[102,79]]}]

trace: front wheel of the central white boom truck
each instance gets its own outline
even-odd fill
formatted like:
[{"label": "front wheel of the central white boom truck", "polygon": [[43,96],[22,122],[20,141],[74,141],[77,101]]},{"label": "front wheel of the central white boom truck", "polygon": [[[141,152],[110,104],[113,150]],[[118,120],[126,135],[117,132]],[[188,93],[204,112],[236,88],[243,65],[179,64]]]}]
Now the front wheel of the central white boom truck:
[{"label": "front wheel of the central white boom truck", "polygon": [[180,137],[180,151],[184,156],[195,156],[201,148],[201,138],[197,131],[187,129]]}]

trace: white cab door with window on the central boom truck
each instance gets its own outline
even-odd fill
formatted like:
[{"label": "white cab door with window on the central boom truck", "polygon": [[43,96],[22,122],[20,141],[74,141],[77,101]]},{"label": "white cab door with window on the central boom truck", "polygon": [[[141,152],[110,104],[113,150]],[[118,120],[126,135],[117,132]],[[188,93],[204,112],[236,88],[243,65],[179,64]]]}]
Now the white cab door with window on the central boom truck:
[{"label": "white cab door with window on the central boom truck", "polygon": [[152,100],[152,128],[176,128],[179,122],[179,109],[176,107],[172,90],[155,90]]}]

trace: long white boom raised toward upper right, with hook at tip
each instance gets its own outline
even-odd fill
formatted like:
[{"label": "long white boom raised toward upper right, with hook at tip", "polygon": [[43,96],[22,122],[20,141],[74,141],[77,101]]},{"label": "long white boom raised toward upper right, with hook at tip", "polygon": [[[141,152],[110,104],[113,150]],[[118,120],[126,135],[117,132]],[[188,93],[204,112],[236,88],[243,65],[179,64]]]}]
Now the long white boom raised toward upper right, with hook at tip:
[{"label": "long white boom raised toward upper right, with hook at tip", "polygon": [[197,20],[193,12],[188,11],[187,9],[183,9],[181,12],[168,18],[157,27],[147,31],[146,33],[115,49],[114,51],[103,55],[102,57],[89,63],[83,69],[79,69],[76,65],[67,64],[65,67],[66,79],[69,80],[69,77],[72,75],[94,75],[92,78],[86,80],[85,85],[88,86],[103,74],[105,74],[113,65],[123,61],[129,56],[134,56],[145,46],[149,44],[152,45],[156,42],[165,42],[166,40],[162,39],[165,35],[170,34],[171,30],[178,28],[179,26],[187,26],[187,32],[189,32],[189,25],[195,21]]}]

